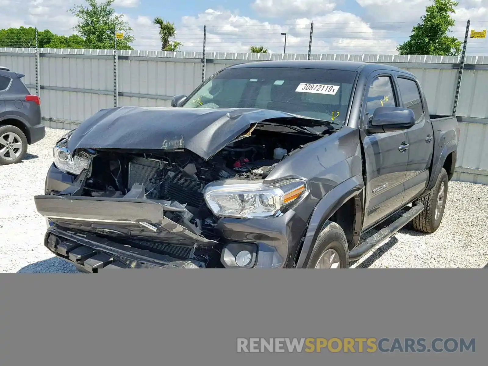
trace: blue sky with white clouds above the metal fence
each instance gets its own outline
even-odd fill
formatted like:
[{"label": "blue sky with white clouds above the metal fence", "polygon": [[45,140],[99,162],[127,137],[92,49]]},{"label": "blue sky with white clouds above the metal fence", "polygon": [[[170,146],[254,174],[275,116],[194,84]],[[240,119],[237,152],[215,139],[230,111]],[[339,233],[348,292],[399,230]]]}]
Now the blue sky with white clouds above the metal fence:
[{"label": "blue sky with white clouds above the metal fence", "polygon": [[[77,20],[67,9],[83,0],[0,0],[0,27],[37,26],[58,34],[73,33]],[[429,0],[115,0],[115,8],[134,29],[133,47],[158,50],[155,16],[177,27],[182,51],[201,51],[207,25],[207,51],[246,52],[264,45],[270,52],[306,53],[314,22],[312,53],[395,54]],[[169,6],[168,6],[169,5]],[[453,35],[464,38],[466,21],[475,30],[488,27],[488,0],[460,0]],[[488,40],[469,40],[468,54],[487,55]]]}]

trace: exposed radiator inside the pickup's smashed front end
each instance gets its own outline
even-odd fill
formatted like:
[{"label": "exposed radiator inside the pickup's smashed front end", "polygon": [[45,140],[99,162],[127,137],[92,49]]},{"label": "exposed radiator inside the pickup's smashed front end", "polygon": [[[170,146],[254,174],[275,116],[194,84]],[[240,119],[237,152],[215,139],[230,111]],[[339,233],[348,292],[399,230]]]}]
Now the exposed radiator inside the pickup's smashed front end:
[{"label": "exposed radiator inside the pickup's smashed front end", "polygon": [[[129,163],[129,187],[134,183],[141,183],[149,192],[154,188],[156,178],[166,169],[167,163],[156,159],[135,158]],[[151,182],[152,181],[152,182]],[[203,185],[183,175],[179,167],[168,169],[166,180],[159,184],[147,197],[163,200],[176,200],[179,203],[187,203],[193,207],[203,204]]]}]

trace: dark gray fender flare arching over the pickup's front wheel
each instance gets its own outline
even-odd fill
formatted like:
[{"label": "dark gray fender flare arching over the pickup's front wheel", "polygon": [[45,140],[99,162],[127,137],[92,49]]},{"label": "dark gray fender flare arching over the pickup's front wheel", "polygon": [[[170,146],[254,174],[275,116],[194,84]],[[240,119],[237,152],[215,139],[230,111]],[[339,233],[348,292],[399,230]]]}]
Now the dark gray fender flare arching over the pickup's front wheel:
[{"label": "dark gray fender flare arching over the pickup's front wheel", "polygon": [[354,176],[331,189],[327,194],[325,194],[319,203],[317,203],[308,222],[304,243],[297,261],[298,268],[306,267],[306,264],[310,259],[310,255],[313,252],[315,240],[320,233],[320,229],[325,224],[325,221],[334,215],[334,213],[343,204],[354,196],[357,196],[358,199],[354,205],[356,209],[356,220],[352,246],[359,243],[361,226],[363,224],[364,189],[365,185],[363,179],[360,176]]}]

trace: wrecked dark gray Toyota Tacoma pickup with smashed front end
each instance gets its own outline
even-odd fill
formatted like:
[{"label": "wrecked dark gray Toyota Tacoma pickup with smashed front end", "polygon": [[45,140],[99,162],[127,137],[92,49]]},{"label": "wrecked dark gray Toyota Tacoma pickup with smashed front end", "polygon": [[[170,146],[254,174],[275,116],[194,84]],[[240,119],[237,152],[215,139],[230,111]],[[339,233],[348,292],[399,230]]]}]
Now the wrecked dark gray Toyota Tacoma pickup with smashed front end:
[{"label": "wrecked dark gray Toyota Tacoma pickup with smashed front end", "polygon": [[441,223],[458,122],[405,70],[245,63],[171,105],[104,109],[57,142],[35,197],[49,250],[90,273],[347,268]]}]

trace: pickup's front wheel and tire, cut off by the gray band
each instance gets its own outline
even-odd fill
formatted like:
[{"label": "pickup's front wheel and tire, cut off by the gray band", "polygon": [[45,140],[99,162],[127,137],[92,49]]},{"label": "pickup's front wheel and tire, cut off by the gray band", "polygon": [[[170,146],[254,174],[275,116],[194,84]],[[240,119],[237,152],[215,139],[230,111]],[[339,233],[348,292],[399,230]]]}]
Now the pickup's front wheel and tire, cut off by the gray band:
[{"label": "pickup's front wheel and tire, cut off by the gray band", "polygon": [[341,226],[332,221],[325,222],[307,268],[349,268],[349,248]]}]

